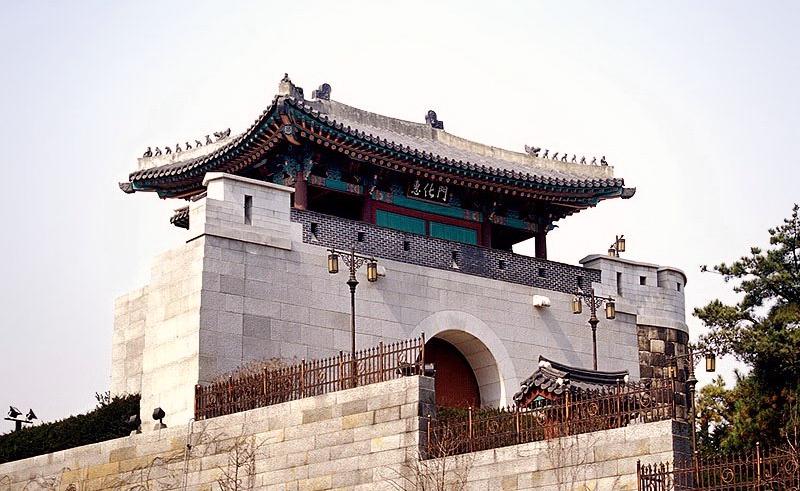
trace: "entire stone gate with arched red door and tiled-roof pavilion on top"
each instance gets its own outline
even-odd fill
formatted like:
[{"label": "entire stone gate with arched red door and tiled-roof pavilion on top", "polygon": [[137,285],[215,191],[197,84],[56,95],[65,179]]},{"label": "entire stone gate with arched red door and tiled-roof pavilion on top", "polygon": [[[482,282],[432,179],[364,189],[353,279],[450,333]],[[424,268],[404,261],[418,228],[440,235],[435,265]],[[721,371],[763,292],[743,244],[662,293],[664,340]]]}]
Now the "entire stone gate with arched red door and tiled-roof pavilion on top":
[{"label": "entire stone gate with arched red door and tiled-roof pavilion on top", "polygon": [[[596,350],[599,372],[639,379],[683,352],[680,270],[618,254],[548,259],[556,222],[633,197],[605,158],[483,145],[434,111],[403,121],[331,92],[306,98],[286,76],[245,131],[148,148],[120,183],[176,204],[165,217],[176,246],[115,305],[111,389],[141,393],[142,419],[161,407],[168,425],[186,423],[196,384],[249,362],[349,351],[351,250],[376,262],[356,273],[358,349],[424,335],[439,404],[511,405],[540,357],[592,369]],[[534,256],[512,251],[528,239]],[[592,290],[615,307],[598,314],[596,343],[585,300],[573,313]]]}]

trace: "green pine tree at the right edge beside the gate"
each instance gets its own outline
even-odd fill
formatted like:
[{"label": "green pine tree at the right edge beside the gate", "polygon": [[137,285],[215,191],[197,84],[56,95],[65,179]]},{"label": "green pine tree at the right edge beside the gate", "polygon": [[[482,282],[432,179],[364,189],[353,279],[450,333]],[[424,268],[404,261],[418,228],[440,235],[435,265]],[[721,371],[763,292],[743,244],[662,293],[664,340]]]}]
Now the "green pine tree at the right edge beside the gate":
[{"label": "green pine tree at the right edge beside the gate", "polygon": [[[794,432],[800,397],[800,208],[769,230],[770,248],[752,247],[731,265],[714,267],[739,303],[719,300],[694,310],[709,328],[700,347],[751,367],[728,389],[717,379],[698,394],[699,443],[734,451],[756,441],[777,443]],[[707,267],[702,268],[707,271]]]}]

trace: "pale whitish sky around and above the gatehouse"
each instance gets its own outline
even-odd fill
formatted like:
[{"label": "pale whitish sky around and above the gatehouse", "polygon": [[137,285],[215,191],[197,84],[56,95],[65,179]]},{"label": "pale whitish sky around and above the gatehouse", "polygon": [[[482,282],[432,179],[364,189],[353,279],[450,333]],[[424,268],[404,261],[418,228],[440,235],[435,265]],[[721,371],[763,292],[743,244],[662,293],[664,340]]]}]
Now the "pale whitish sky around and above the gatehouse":
[{"label": "pale whitish sky around and above the gatehouse", "polygon": [[4,2],[0,410],[58,419],[108,389],[114,298],[181,237],[182,202],[117,182],[148,145],[242,131],[284,72],[482,143],[606,155],[636,196],[560,221],[550,259],[625,234],[625,257],[687,273],[693,337],[692,307],[735,299],[699,265],[800,201],[798,3],[379,3]]}]

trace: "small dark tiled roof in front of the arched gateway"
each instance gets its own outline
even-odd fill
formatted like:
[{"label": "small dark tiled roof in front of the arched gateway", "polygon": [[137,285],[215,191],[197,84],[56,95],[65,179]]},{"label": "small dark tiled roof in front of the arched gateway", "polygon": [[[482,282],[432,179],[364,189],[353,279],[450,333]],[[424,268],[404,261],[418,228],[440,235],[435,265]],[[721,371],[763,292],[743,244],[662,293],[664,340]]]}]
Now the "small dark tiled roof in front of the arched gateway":
[{"label": "small dark tiled roof in front of the arched gateway", "polygon": [[628,371],[601,372],[585,368],[571,367],[563,363],[539,356],[539,367],[533,375],[520,384],[520,390],[514,394],[517,405],[526,404],[534,392],[561,395],[571,388],[579,390],[597,390],[618,385],[628,381]]}]

